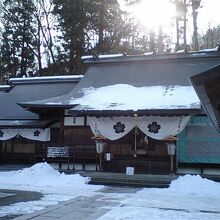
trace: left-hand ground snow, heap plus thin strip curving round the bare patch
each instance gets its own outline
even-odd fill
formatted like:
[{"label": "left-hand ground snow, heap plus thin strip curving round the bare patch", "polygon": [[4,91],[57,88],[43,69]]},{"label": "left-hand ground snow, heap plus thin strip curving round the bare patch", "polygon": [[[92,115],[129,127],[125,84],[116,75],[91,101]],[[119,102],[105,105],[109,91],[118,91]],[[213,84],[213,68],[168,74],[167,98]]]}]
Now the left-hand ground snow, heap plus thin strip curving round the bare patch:
[{"label": "left-hand ground snow, heap plus thin strip curving round the bare patch", "polygon": [[43,194],[39,201],[20,202],[0,207],[0,217],[44,209],[77,196],[91,196],[103,186],[88,185],[89,179],[79,174],[59,173],[47,163],[38,163],[19,171],[1,172],[0,189],[36,191]]}]

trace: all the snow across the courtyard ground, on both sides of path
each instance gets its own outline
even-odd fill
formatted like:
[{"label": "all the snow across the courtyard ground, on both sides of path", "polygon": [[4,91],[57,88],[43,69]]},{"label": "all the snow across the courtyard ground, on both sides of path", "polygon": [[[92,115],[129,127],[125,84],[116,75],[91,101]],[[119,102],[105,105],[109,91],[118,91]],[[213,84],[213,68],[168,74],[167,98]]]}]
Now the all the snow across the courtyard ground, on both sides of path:
[{"label": "all the snow across the courtyard ground, on both sides of path", "polygon": [[[110,209],[98,220],[220,219],[220,183],[199,175],[181,176],[169,188],[140,188],[133,193],[106,193],[105,186],[89,185],[88,181],[79,174],[59,173],[47,163],[1,172],[0,189],[36,191],[43,197],[38,201],[1,206],[0,217],[31,213],[78,196],[98,196],[101,208]],[[118,205],[111,206],[115,201]]]}]

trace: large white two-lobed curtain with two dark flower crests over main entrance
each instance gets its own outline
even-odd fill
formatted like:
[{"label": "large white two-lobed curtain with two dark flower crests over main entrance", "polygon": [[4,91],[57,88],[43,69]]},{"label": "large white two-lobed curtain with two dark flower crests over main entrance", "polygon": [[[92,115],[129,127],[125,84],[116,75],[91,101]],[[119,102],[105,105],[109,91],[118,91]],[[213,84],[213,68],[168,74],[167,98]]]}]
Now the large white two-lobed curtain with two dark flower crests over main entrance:
[{"label": "large white two-lobed curtain with two dark flower crests over main entrance", "polygon": [[162,140],[179,134],[189,119],[190,116],[88,117],[88,122],[94,135],[101,134],[109,140],[125,136],[135,126],[147,136]]}]

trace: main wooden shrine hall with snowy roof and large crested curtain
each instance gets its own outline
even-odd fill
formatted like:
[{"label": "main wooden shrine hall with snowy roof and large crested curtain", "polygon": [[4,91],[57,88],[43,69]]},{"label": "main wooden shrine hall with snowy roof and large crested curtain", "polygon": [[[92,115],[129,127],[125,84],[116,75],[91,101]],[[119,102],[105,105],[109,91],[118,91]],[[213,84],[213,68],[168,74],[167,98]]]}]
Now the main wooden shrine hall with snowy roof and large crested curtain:
[{"label": "main wooden shrine hall with snowy roof and large crested curtain", "polygon": [[38,120],[56,121],[48,125],[51,146],[69,146],[77,162],[98,158],[108,172],[187,173],[220,165],[219,134],[189,81],[220,65],[218,49],[82,61],[86,73],[69,91],[16,102]]}]

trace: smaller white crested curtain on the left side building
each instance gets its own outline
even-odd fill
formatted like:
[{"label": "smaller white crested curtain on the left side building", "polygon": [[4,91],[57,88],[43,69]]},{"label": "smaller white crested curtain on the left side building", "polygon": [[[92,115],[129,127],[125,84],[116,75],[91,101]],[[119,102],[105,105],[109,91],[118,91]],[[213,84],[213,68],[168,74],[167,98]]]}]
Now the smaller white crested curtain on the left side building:
[{"label": "smaller white crested curtain on the left side building", "polygon": [[0,129],[0,140],[9,140],[16,135],[21,135],[24,138],[36,141],[49,141],[50,140],[50,128],[39,129]]}]

